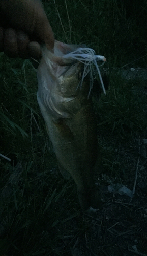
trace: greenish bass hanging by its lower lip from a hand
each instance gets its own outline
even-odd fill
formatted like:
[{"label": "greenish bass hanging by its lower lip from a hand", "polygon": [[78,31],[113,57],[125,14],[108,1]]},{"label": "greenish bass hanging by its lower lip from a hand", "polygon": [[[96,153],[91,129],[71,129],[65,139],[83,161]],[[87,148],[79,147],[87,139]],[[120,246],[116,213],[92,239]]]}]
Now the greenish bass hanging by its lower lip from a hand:
[{"label": "greenish bass hanging by its lower lip from a hand", "polygon": [[102,203],[94,182],[99,149],[90,76],[80,85],[84,64],[63,58],[78,47],[84,46],[55,41],[54,53],[42,49],[37,100],[58,168],[65,179],[73,178],[81,209],[87,210]]}]

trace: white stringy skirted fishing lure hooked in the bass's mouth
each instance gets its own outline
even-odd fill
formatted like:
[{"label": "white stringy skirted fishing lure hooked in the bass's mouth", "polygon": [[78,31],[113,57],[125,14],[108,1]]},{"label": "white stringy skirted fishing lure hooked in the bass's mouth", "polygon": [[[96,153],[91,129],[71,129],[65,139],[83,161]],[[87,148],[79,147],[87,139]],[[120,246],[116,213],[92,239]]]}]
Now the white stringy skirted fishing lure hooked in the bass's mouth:
[{"label": "white stringy skirted fishing lure hooked in the bass's mouth", "polygon": [[[93,79],[93,64],[96,66],[96,69],[97,69],[97,72],[99,74],[99,78],[100,78],[100,81],[101,81],[101,84],[102,84],[102,88],[103,88],[103,92],[104,94],[106,94],[106,91],[105,91],[105,87],[104,87],[104,84],[103,84],[103,80],[102,80],[102,77],[101,77],[101,73],[100,73],[100,70],[99,70],[99,67],[102,66],[106,59],[104,56],[101,56],[101,55],[96,55],[95,51],[91,48],[78,48],[77,50],[73,51],[73,52],[70,52],[68,54],[65,54],[63,56],[63,58],[65,59],[76,59],[80,62],[82,62],[84,64],[84,71],[83,71],[83,75],[82,75],[82,79],[81,79],[81,82],[80,82],[80,87],[82,86],[82,82],[83,82],[83,79],[84,77],[90,72],[90,91],[93,87],[93,82],[94,82],[94,79]],[[102,63],[102,65],[98,65],[97,61],[104,61]],[[90,95],[90,92],[89,92],[89,95]]]}]

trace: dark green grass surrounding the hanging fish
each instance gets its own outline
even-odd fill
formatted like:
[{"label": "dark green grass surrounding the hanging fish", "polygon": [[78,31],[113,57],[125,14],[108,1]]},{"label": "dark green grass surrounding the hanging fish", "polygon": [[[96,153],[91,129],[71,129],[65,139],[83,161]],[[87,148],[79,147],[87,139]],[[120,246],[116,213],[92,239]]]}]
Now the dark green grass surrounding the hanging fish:
[{"label": "dark green grass surrounding the hanging fish", "polygon": [[[107,58],[110,68],[120,68],[146,55],[146,1],[140,1],[139,7],[134,1],[130,13],[116,0],[55,3],[63,27],[54,2],[43,1],[57,40],[94,48]],[[145,66],[146,57],[132,65]],[[74,237],[82,236],[88,227],[81,216],[74,182],[58,174],[36,99],[36,71],[31,61],[9,59],[1,53],[0,84],[0,153],[12,158],[11,163],[0,158],[1,188],[14,172],[15,162],[23,166],[18,184],[10,186],[11,196],[4,201],[1,197],[5,230],[0,237],[0,256],[71,255]],[[94,99],[94,104],[104,172],[119,180],[118,169],[126,174],[115,159],[114,148],[146,129],[142,81],[127,81],[110,72],[110,88],[100,102]],[[71,236],[71,244],[63,246],[64,236]]]}]

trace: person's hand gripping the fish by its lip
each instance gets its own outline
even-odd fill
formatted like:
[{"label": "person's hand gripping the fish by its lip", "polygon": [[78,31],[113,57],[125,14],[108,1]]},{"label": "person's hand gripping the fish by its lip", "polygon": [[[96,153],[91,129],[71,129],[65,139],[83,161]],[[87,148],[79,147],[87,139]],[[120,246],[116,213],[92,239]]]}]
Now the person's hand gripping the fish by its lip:
[{"label": "person's hand gripping the fish by its lip", "polygon": [[40,0],[0,0],[0,51],[9,57],[39,58],[40,44],[54,47],[54,35]]}]

